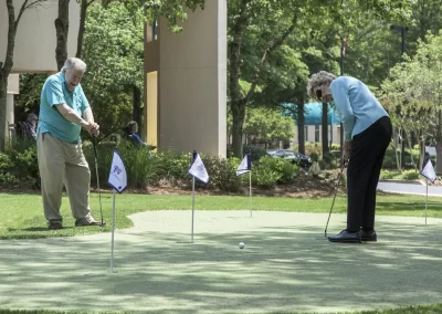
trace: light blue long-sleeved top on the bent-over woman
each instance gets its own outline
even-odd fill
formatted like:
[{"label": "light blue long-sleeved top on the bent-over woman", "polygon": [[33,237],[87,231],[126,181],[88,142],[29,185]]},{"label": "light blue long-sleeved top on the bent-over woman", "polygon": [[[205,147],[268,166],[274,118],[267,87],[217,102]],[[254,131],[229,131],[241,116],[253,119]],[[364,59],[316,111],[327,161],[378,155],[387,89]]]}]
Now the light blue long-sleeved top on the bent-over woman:
[{"label": "light blue long-sleeved top on the bent-over woman", "polygon": [[367,85],[350,76],[339,76],[330,84],[338,118],[344,125],[344,137],[350,142],[352,137],[388,116]]}]

